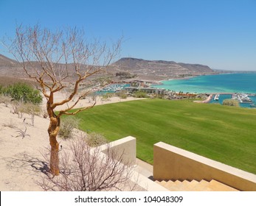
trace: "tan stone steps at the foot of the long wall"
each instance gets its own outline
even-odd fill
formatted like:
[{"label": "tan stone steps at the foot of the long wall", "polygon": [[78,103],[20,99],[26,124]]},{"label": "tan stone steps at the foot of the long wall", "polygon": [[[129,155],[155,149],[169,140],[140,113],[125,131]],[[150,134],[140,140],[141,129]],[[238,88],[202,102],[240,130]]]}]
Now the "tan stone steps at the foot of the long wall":
[{"label": "tan stone steps at the foot of the long wall", "polygon": [[216,180],[211,180],[210,182],[207,180],[201,180],[200,182],[196,180],[192,180],[191,182],[187,180],[182,182],[179,180],[163,180],[159,182],[156,180],[155,182],[167,188],[169,191],[238,191]]}]

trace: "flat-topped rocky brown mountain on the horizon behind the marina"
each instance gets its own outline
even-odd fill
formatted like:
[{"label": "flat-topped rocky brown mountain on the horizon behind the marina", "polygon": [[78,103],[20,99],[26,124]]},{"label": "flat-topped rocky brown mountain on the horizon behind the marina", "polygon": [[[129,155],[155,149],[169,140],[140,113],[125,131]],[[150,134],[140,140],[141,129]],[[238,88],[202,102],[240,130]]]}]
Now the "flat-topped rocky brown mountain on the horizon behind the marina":
[{"label": "flat-topped rocky brown mountain on the horizon behind the marina", "polygon": [[140,79],[170,79],[172,77],[189,77],[204,74],[215,74],[209,66],[189,63],[176,63],[164,60],[142,60],[122,58],[111,67],[117,72],[135,74]]}]

